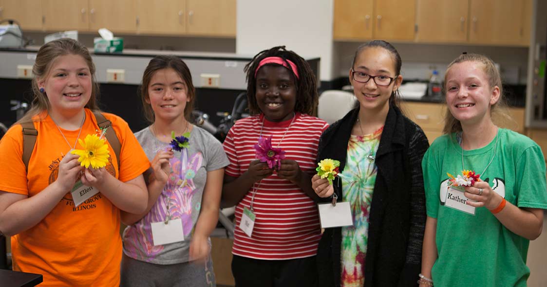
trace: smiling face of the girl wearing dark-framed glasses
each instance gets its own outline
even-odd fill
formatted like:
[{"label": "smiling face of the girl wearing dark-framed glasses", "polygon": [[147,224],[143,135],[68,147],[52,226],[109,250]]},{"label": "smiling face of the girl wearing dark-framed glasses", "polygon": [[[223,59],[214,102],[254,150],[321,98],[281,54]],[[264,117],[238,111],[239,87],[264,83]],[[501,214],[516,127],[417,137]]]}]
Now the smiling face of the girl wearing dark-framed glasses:
[{"label": "smiling face of the girl wearing dark-framed glasses", "polygon": [[[360,75],[384,76],[394,78],[391,84],[379,86],[373,78],[366,83],[360,83],[353,79],[352,72]],[[395,74],[395,62],[391,53],[381,47],[364,48],[356,57],[353,68],[350,69],[350,83],[353,86],[353,94],[357,97],[361,108],[374,112],[387,111],[389,109],[389,97],[397,90],[403,81],[401,75]]]}]

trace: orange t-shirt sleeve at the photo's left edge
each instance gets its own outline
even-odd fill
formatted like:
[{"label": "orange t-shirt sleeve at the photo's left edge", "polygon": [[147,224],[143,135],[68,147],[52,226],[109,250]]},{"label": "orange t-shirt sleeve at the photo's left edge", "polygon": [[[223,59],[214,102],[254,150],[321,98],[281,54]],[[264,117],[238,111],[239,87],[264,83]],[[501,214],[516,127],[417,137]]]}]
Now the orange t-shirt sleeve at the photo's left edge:
[{"label": "orange t-shirt sleeve at the photo's left edge", "polygon": [[23,162],[21,125],[12,126],[0,140],[0,191],[28,195],[27,171]]}]

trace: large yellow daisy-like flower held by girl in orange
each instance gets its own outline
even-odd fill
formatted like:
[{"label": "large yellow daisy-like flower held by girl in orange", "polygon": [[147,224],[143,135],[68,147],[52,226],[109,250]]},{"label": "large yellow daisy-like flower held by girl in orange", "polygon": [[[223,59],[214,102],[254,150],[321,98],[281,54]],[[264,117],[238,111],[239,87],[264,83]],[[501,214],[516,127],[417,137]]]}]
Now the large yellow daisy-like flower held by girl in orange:
[{"label": "large yellow daisy-like flower held by girl in orange", "polygon": [[85,166],[85,168],[89,168],[90,165],[92,168],[106,166],[110,155],[108,144],[104,139],[99,138],[96,134],[88,134],[84,140],[78,139],[78,142],[84,149],[72,150],[71,154],[80,156],[78,162],[81,166]]}]

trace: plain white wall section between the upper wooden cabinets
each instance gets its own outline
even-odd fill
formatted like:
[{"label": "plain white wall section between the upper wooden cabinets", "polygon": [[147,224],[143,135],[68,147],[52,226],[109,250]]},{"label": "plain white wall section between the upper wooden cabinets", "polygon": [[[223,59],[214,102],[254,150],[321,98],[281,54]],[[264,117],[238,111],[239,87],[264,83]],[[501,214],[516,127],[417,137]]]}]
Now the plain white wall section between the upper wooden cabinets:
[{"label": "plain white wall section between the upper wooden cabinets", "polygon": [[333,0],[237,0],[236,53],[273,46],[321,57],[319,78],[333,79]]}]

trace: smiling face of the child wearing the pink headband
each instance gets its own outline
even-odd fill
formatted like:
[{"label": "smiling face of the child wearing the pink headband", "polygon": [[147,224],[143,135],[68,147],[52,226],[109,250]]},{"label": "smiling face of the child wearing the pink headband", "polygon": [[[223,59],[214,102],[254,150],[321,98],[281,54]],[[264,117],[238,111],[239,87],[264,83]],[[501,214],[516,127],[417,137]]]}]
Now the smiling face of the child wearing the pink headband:
[{"label": "smiling face of the child wearing the pink headband", "polygon": [[296,104],[294,75],[283,66],[265,65],[257,72],[257,104],[269,121],[292,118]]}]

